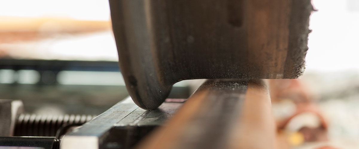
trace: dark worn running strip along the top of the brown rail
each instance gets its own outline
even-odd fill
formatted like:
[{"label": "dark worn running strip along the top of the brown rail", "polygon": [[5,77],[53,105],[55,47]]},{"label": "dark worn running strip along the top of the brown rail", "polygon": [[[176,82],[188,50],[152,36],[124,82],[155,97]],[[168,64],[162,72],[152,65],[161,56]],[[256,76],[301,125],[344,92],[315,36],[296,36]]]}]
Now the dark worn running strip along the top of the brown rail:
[{"label": "dark worn running strip along the top of the brown rail", "polygon": [[182,129],[178,146],[183,149],[226,148],[230,128],[242,114],[248,80],[208,80],[192,95],[202,91],[202,107],[191,116],[191,121]]}]

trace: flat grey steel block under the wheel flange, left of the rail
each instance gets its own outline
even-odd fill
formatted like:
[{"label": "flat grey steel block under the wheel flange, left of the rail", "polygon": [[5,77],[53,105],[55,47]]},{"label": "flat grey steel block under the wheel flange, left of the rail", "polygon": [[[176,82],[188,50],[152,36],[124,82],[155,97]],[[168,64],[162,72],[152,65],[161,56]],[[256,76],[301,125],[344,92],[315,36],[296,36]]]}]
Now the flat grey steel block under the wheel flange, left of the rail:
[{"label": "flat grey steel block under the wheel flange, left of the rail", "polygon": [[126,98],[101,115],[67,133],[61,149],[129,148],[153,128],[162,125],[182,105],[168,100],[158,109],[147,111]]}]

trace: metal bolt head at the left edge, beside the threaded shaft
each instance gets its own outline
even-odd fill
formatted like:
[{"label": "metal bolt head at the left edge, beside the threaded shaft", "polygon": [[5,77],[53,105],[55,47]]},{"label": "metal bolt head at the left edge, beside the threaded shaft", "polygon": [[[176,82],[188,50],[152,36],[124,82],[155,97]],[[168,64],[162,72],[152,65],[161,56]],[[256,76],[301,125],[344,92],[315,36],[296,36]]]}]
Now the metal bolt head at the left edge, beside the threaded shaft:
[{"label": "metal bolt head at the left edge, beside the threaded shaft", "polygon": [[24,113],[21,100],[0,99],[0,136],[13,136],[17,117]]}]

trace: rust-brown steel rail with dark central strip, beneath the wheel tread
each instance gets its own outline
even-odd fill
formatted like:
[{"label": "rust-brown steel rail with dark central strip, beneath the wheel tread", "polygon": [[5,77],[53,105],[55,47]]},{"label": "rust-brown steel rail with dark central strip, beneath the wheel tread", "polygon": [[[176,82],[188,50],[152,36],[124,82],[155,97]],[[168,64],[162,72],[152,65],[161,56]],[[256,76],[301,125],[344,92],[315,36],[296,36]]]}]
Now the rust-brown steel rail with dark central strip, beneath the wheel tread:
[{"label": "rust-brown steel rail with dark central strip, beneath the wheel tread", "polygon": [[269,91],[262,80],[204,83],[138,149],[275,149]]}]

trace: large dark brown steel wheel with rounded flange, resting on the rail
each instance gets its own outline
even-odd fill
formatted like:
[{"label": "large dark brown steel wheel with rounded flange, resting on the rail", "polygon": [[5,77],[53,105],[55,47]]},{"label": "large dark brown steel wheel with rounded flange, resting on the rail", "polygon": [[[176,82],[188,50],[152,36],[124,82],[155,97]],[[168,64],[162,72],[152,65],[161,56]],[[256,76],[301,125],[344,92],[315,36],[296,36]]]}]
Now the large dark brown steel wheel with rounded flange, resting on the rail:
[{"label": "large dark brown steel wheel with rounded flange, resting on the rail", "polygon": [[297,78],[310,0],[109,0],[121,72],[157,108],[186,79]]}]

